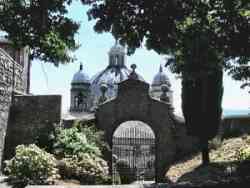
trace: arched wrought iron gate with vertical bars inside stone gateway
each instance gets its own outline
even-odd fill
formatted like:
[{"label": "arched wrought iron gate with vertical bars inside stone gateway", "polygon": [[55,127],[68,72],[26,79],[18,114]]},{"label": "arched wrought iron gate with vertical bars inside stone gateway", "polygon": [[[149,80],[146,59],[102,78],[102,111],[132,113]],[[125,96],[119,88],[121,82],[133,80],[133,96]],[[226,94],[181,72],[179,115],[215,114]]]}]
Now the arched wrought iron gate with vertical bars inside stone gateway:
[{"label": "arched wrought iron gate with vertical bars inside stone gateway", "polygon": [[[136,123],[137,122],[137,123]],[[114,184],[155,178],[155,136],[142,122],[129,121],[113,136],[112,176]],[[119,129],[118,128],[118,129]]]}]

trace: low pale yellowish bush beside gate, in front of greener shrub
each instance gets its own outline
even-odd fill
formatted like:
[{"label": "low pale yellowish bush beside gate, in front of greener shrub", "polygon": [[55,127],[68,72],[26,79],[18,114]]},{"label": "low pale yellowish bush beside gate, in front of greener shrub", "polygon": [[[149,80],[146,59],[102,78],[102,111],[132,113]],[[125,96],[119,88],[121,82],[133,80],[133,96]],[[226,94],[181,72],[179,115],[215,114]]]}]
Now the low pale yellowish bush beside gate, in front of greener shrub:
[{"label": "low pale yellowish bush beside gate, in front of greener shrub", "polygon": [[82,153],[61,160],[60,174],[76,178],[82,184],[103,184],[109,181],[108,165],[102,158]]}]

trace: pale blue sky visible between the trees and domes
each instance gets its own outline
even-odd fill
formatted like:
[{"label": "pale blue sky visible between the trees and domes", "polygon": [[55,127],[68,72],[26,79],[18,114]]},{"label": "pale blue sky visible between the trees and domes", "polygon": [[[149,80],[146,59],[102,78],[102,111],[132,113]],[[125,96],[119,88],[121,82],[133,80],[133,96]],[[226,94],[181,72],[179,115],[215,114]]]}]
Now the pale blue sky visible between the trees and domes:
[{"label": "pale blue sky visible between the trees and domes", "polygon": [[[114,45],[111,34],[97,34],[93,31],[94,21],[89,22],[86,15],[87,7],[80,2],[73,1],[70,6],[69,16],[81,23],[79,34],[76,40],[81,47],[74,52],[77,61],[67,65],[55,67],[50,63],[33,61],[31,68],[31,92],[33,94],[60,94],[62,95],[62,112],[69,108],[70,82],[73,74],[79,70],[80,62],[83,63],[84,72],[93,76],[108,65],[108,51]],[[154,51],[148,51],[144,47],[138,49],[132,56],[127,57],[126,65],[137,65],[137,72],[151,83],[154,75],[158,72],[159,66],[164,62],[164,57]],[[174,107],[177,114],[181,113],[181,84],[176,75],[165,69],[172,83],[174,91]],[[233,110],[247,110],[250,107],[250,95],[247,90],[240,89],[241,82],[233,81],[224,74],[224,96],[223,108]]]}]

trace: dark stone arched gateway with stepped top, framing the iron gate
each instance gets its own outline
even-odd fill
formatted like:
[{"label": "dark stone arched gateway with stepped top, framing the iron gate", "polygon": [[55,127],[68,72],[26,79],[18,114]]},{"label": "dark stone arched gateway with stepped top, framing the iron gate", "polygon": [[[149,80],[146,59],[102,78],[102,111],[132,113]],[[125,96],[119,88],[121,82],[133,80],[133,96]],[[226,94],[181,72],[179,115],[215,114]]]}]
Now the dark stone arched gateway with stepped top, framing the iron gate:
[{"label": "dark stone arched gateway with stepped top, framing the iron gate", "polygon": [[[116,131],[119,131],[119,127],[125,125],[124,129],[130,129],[131,131],[131,127],[126,128],[126,123],[128,122],[136,121],[147,124],[148,128],[152,130],[152,133],[154,135],[153,145],[155,147],[152,146],[151,152],[153,152],[152,159],[155,160],[153,162],[153,166],[155,167],[153,170],[155,181],[164,182],[166,180],[165,174],[170,164],[173,162],[176,153],[176,143],[174,141],[175,121],[173,110],[170,104],[152,99],[149,96],[149,84],[137,80],[133,76],[131,76],[128,80],[119,83],[117,97],[99,106],[96,112],[96,119],[97,127],[104,131],[105,138],[110,147],[113,149],[113,158],[115,154],[114,147],[117,147],[117,143],[119,145],[119,141],[115,140],[114,138],[116,136]],[[134,125],[131,125],[130,123],[130,126],[133,127]],[[125,131],[125,133],[121,133],[121,135],[122,134],[129,133],[126,133]],[[143,135],[144,133],[139,134]],[[131,140],[134,140],[135,138],[138,138],[138,136],[134,135],[131,137],[130,135],[128,139],[129,138],[131,138]],[[128,143],[128,139],[125,139],[124,142]],[[142,140],[140,140],[139,142],[141,141]],[[150,144],[151,143],[149,143],[149,145]],[[127,149],[136,150],[136,141],[131,141],[131,145],[132,146],[129,146],[128,144],[128,146],[126,146]],[[141,151],[138,152],[143,152],[143,146],[140,145],[138,147],[141,148]],[[149,146],[147,146],[146,148],[148,147]],[[128,151],[127,155],[130,155],[130,153]],[[110,152],[108,155],[108,158],[110,159],[110,166],[114,170],[115,164],[114,159],[112,164],[112,152]],[[144,153],[144,155],[146,155],[146,153]],[[139,158],[136,160],[139,160]],[[148,163],[148,165],[150,165],[150,162]]]}]

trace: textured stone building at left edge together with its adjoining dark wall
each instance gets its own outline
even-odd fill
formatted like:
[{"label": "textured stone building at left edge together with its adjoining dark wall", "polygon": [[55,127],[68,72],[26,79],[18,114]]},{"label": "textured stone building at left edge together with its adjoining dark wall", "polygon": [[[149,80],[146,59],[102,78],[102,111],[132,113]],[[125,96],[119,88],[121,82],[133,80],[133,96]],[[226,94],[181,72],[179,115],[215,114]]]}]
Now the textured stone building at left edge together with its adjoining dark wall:
[{"label": "textured stone building at left edge together with its adjoining dark wall", "polygon": [[11,41],[0,37],[1,162],[13,156],[17,145],[34,143],[39,129],[61,119],[61,96],[29,93],[29,53],[28,47],[13,48]]}]

